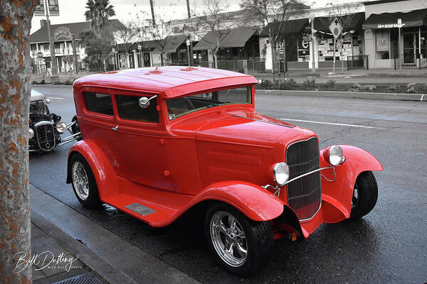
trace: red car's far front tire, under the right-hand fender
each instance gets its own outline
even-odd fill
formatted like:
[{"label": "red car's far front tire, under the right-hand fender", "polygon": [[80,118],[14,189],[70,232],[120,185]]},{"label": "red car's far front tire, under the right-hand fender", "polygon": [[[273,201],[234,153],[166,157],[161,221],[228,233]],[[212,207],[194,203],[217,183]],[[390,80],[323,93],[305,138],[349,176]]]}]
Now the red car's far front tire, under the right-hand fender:
[{"label": "red car's far front tire, under the right-hand fender", "polygon": [[378,185],[371,171],[363,172],[354,183],[351,220],[358,220],[374,209],[378,199]]}]

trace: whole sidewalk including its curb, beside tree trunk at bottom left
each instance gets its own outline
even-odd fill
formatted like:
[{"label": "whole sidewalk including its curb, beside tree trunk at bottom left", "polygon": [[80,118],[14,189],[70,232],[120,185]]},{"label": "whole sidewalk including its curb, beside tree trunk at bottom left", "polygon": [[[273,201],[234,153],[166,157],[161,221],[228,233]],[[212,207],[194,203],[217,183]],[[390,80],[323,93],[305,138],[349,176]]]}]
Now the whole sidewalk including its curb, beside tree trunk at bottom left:
[{"label": "whole sidewalk including its curb, beside tree trunk at bottom left", "polygon": [[[33,283],[50,284],[83,275],[80,278],[84,279],[67,283],[199,284],[43,190],[30,185],[30,195],[31,256],[38,254],[38,260],[41,260],[32,268]],[[53,256],[56,261],[42,268],[45,256],[48,259]],[[39,268],[42,269],[37,270]],[[60,283],[62,281],[56,284]]]}]

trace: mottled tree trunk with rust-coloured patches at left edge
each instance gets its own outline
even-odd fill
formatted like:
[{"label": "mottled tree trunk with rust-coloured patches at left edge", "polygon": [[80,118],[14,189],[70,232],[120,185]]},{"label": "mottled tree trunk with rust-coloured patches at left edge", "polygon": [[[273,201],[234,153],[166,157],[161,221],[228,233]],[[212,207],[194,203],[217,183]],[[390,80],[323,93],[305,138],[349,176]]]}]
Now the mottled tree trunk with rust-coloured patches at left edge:
[{"label": "mottled tree trunk with rust-coloured patches at left edge", "polygon": [[0,282],[31,283],[30,45],[36,1],[0,1]]}]

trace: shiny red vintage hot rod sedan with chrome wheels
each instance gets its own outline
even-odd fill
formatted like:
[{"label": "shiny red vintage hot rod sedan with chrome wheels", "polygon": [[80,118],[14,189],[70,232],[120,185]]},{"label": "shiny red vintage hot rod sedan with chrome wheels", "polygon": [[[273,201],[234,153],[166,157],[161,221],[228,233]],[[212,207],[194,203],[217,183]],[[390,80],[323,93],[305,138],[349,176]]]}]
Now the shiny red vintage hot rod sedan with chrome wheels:
[{"label": "shiny red vintage hot rod sedan with chrome wheels", "polygon": [[257,83],[202,67],[78,79],[83,140],[67,182],[83,206],[107,203],[154,227],[196,208],[214,257],[237,275],[265,265],[275,239],[368,214],[381,163],[353,146],[320,150],[314,132],[258,114]]}]

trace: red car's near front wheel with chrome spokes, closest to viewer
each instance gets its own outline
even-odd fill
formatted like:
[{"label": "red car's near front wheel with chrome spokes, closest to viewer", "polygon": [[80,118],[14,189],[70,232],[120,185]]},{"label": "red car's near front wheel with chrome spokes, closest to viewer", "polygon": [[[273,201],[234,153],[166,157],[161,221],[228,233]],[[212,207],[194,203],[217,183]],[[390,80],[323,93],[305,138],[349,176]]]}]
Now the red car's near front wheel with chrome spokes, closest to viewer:
[{"label": "red car's near front wheel with chrome spokes, closest to viewer", "polygon": [[216,261],[240,276],[251,275],[265,265],[273,247],[268,222],[248,219],[228,204],[217,203],[209,208],[205,233]]}]

